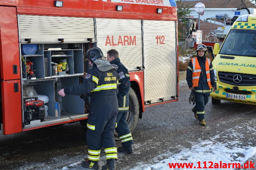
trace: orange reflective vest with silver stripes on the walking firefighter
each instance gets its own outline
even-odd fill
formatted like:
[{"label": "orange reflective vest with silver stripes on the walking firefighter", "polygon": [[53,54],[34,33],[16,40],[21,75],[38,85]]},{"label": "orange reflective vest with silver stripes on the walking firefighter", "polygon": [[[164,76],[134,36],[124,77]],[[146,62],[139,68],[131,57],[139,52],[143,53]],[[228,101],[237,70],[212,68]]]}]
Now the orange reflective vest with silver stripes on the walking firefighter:
[{"label": "orange reflective vest with silver stripes on the walking firefighter", "polygon": [[[200,73],[201,73],[201,67],[197,60],[197,57],[192,58],[191,60],[192,60],[192,65],[193,65],[192,84],[193,84],[193,87],[198,87],[198,82],[199,82]],[[211,78],[210,78],[210,64],[211,64],[210,59],[206,58],[205,71],[206,71],[206,78],[207,78],[209,89],[212,88]]]}]

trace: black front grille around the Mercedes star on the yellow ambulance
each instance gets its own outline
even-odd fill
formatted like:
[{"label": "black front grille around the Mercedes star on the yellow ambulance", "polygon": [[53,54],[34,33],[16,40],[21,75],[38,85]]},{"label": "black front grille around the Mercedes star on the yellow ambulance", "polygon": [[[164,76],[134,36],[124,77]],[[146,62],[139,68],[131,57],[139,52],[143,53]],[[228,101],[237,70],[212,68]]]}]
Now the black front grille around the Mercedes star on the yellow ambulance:
[{"label": "black front grille around the Mercedes star on the yellow ambulance", "polygon": [[[234,76],[241,76],[240,82],[234,81]],[[243,73],[232,73],[219,71],[218,76],[221,82],[231,84],[234,86],[256,86],[256,75],[255,74],[243,74]],[[236,77],[235,77],[236,79]]]}]

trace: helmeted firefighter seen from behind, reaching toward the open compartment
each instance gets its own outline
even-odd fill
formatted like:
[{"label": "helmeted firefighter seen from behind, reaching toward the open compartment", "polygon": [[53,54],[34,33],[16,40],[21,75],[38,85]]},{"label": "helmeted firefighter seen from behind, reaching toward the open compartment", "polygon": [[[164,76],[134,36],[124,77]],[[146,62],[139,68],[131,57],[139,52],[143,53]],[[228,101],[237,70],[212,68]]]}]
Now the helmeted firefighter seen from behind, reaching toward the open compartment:
[{"label": "helmeted firefighter seen from behind, reaching toward the open compartment", "polygon": [[83,82],[75,87],[61,89],[59,94],[88,94],[91,106],[87,122],[88,159],[82,161],[82,166],[90,169],[99,169],[101,146],[106,153],[107,163],[103,170],[115,170],[117,148],[114,139],[116,116],[118,113],[118,75],[115,69],[118,67],[110,64],[103,58],[103,52],[94,47],[86,52],[86,58],[90,60],[91,68],[83,79]]}]

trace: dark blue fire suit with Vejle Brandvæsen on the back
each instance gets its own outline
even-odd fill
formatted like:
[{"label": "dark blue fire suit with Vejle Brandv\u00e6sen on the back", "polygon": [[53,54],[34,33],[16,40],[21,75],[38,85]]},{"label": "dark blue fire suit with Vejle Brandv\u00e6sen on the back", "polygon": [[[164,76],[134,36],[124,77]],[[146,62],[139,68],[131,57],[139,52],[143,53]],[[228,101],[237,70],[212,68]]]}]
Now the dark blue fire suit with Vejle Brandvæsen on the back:
[{"label": "dark blue fire suit with Vejle Brandv\u00e6sen on the back", "polygon": [[106,159],[117,159],[114,138],[118,113],[117,90],[118,74],[116,70],[103,72],[97,68],[95,63],[81,84],[64,88],[65,94],[88,94],[90,96],[91,106],[86,125],[89,160],[99,160],[101,147],[105,151],[111,150],[106,152]]}]

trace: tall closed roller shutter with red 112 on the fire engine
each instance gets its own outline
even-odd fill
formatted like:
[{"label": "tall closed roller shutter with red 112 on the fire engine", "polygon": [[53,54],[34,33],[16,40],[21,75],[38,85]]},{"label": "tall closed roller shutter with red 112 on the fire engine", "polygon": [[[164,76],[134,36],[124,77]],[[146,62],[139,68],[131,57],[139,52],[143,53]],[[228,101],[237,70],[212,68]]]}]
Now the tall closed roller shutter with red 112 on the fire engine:
[{"label": "tall closed roller shutter with red 112 on the fire engine", "polygon": [[[145,101],[169,100],[177,94],[175,21],[143,21]],[[160,99],[161,98],[161,99]]]}]

